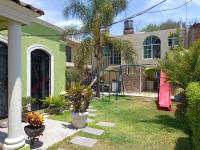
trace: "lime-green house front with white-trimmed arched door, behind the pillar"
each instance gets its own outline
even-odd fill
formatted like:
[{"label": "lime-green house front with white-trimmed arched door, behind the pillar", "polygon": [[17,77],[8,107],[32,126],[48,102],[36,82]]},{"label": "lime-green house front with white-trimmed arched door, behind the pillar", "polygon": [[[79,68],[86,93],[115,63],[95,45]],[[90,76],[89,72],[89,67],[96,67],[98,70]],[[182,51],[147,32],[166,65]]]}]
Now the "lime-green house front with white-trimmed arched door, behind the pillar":
[{"label": "lime-green house front with white-trimmed arched door, behind the pillar", "polygon": [[[65,90],[65,45],[62,29],[36,19],[22,27],[22,96],[37,98],[35,109],[42,107],[39,99],[59,95]],[[7,30],[1,31],[1,91],[0,117],[7,116]],[[4,35],[4,36],[3,36]]]}]

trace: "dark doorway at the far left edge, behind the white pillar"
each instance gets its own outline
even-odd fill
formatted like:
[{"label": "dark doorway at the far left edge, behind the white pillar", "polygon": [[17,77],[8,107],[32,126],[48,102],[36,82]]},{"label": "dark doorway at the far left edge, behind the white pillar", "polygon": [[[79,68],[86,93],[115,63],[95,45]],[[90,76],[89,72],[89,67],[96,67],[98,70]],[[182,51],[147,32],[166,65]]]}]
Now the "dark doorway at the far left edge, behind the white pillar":
[{"label": "dark doorway at the far left edge, behind the white pillar", "polygon": [[0,118],[8,115],[8,46],[0,42]]}]

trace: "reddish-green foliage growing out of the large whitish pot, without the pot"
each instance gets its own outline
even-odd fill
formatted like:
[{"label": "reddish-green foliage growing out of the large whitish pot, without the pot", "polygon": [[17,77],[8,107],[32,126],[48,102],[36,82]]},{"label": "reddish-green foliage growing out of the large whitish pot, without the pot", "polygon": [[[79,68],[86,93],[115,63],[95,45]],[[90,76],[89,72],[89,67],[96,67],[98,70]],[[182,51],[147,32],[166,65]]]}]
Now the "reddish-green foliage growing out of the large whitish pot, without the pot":
[{"label": "reddish-green foliage growing out of the large whitish pot, without the pot", "polygon": [[92,89],[90,87],[76,84],[67,91],[67,99],[70,104],[70,110],[75,113],[87,111],[92,99]]}]

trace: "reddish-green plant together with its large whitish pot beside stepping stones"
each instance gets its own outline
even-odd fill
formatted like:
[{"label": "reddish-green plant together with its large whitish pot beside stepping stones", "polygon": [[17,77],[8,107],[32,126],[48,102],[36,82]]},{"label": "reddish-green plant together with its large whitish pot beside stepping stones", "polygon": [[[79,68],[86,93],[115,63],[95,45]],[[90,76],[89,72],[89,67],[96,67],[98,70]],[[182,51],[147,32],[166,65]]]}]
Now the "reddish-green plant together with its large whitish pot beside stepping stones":
[{"label": "reddish-green plant together with its large whitish pot beside stepping stones", "polygon": [[71,87],[66,94],[69,101],[70,111],[72,116],[72,125],[75,128],[83,128],[87,124],[88,112],[90,101],[92,99],[92,89],[90,87],[76,84]]}]

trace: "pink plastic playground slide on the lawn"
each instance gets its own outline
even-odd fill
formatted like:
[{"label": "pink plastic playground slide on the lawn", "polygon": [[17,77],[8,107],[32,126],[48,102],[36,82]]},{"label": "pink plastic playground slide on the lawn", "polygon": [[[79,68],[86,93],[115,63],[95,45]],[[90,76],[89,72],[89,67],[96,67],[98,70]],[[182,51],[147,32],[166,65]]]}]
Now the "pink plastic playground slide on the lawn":
[{"label": "pink plastic playground slide on the lawn", "polygon": [[171,110],[171,86],[167,82],[167,75],[160,72],[159,107]]}]

